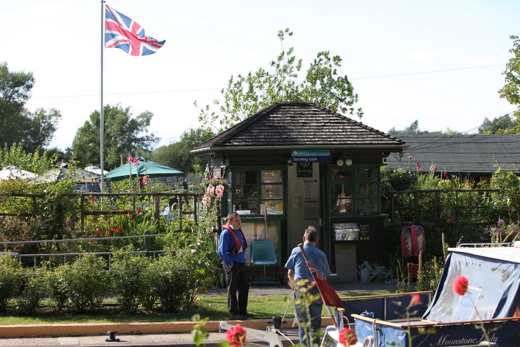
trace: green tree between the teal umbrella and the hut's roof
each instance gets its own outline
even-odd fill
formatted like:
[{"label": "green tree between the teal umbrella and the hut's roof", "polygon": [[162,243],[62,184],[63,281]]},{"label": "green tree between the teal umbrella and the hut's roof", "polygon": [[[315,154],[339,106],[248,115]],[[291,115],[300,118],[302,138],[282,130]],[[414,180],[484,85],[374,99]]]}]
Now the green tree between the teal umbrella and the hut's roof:
[{"label": "green tree between the teal umbrella and the hut's roof", "polygon": [[155,149],[152,153],[153,161],[185,173],[199,172],[206,164],[202,158],[190,153],[190,150],[213,135],[210,129],[190,128],[180,136],[178,141]]}]

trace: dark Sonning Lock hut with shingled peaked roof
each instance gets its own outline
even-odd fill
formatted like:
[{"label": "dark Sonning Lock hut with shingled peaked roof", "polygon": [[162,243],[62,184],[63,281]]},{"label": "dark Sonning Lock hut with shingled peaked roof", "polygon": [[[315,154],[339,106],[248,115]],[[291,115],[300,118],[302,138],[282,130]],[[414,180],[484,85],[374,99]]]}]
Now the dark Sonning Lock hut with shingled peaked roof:
[{"label": "dark Sonning Lock hut with shingled peaked roof", "polygon": [[252,247],[255,240],[273,241],[283,266],[313,225],[337,279],[355,281],[358,264],[383,252],[383,158],[406,148],[399,138],[319,105],[277,102],[192,152],[208,158],[214,177],[231,180],[222,217],[239,211]]}]

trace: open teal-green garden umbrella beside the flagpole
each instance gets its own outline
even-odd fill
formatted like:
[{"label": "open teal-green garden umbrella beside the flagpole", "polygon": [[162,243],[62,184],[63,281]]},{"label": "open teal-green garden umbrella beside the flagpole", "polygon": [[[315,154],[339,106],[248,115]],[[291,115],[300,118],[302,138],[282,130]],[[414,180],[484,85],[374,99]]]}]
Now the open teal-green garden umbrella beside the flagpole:
[{"label": "open teal-green garden umbrella beside the flagpole", "polygon": [[168,168],[153,161],[150,161],[143,157],[137,158],[137,165],[133,162],[126,163],[109,171],[104,176],[110,181],[120,181],[132,176],[150,176],[150,177],[171,177],[175,175],[183,174],[184,172]]}]

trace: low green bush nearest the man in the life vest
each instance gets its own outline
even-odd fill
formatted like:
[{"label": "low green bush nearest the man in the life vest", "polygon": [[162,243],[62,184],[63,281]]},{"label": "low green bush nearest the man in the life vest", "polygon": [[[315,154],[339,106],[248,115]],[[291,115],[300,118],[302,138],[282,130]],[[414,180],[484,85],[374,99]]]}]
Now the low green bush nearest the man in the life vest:
[{"label": "low green bush nearest the man in the life vest", "polygon": [[184,310],[189,296],[190,269],[180,262],[178,256],[167,252],[153,263],[152,271],[157,275],[157,298],[162,311],[174,313]]}]

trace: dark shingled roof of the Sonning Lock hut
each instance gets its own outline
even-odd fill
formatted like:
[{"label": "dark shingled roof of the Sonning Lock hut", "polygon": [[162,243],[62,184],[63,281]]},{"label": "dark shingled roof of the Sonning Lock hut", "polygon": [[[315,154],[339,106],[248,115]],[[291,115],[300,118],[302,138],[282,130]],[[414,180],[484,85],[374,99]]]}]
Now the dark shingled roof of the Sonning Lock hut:
[{"label": "dark shingled roof of the Sonning Lock hut", "polygon": [[277,102],[193,149],[374,147],[405,142],[311,102]]}]

